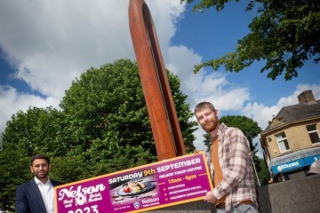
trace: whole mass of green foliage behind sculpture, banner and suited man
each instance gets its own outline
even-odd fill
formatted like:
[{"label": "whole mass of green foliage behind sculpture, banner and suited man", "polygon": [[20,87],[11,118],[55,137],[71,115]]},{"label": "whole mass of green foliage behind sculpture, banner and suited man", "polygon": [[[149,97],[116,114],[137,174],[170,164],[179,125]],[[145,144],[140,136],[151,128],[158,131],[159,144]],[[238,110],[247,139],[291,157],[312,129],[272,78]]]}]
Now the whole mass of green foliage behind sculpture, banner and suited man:
[{"label": "whole mass of green foliage behind sculpture, banner and suited man", "polygon": [[[196,122],[168,71],[187,152],[193,152]],[[15,187],[31,178],[33,154],[52,160],[50,177],[65,183],[156,162],[156,147],[137,64],[118,59],[90,68],[52,107],[29,107],[12,115],[0,147],[0,209],[14,211]]]}]

